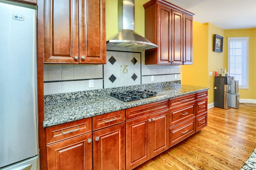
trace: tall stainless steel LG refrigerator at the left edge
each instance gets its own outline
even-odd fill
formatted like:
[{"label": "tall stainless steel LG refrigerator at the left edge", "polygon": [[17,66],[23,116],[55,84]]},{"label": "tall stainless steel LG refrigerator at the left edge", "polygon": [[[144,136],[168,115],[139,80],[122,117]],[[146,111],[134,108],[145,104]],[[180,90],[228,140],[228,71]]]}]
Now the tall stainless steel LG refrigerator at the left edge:
[{"label": "tall stainless steel LG refrigerator at the left edge", "polygon": [[38,170],[36,7],[0,0],[0,170]]}]

